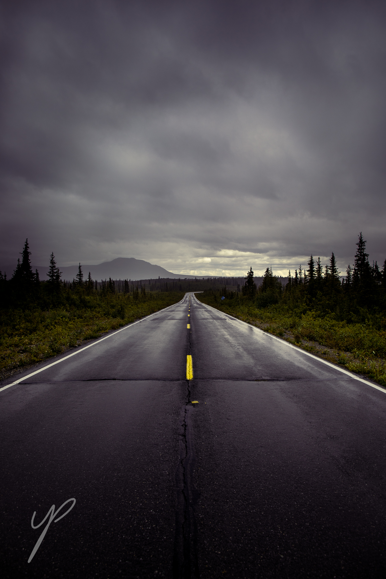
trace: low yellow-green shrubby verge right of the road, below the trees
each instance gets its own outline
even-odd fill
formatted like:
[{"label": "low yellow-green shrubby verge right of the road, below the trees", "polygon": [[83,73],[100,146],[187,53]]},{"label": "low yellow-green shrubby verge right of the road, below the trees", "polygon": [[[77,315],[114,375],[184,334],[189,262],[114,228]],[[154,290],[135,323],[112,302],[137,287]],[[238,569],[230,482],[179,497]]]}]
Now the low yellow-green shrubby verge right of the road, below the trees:
[{"label": "low yellow-green shrubby verge right of the road, below the trees", "polygon": [[[302,313],[280,304],[258,309],[243,298],[219,302],[215,294],[205,293],[196,298],[386,387],[385,329],[371,323],[348,324],[334,320],[333,314],[320,317],[315,312]],[[385,328],[386,320],[378,326]]]}]

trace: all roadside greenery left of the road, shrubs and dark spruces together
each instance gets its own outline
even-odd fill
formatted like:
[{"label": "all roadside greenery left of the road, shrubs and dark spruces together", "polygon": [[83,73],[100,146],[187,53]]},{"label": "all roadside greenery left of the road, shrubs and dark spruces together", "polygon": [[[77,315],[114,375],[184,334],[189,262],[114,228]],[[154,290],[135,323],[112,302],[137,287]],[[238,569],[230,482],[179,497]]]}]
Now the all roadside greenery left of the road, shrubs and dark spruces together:
[{"label": "all roadside greenery left of the road, shrubs and dark spruces together", "polygon": [[117,293],[112,280],[95,284],[89,276],[84,281],[80,266],[76,280],[65,284],[53,255],[49,278],[40,281],[31,269],[28,241],[23,261],[11,280],[1,276],[0,288],[2,378],[177,303],[184,295],[182,291],[146,292],[127,280],[123,292]]}]

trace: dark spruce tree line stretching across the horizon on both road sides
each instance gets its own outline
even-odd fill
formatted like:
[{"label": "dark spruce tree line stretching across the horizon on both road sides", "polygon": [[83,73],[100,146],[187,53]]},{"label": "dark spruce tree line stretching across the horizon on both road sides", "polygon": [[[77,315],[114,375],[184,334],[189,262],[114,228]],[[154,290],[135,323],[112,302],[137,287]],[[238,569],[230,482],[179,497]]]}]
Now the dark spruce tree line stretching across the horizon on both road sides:
[{"label": "dark spruce tree line stretching across the horizon on both road sides", "polygon": [[[31,251],[28,239],[25,240],[21,259],[10,280],[0,272],[0,295],[2,307],[31,306],[56,307],[69,299],[83,299],[87,296],[109,296],[117,292],[131,296],[134,300],[149,299],[152,291],[203,291],[209,290],[220,296],[253,301],[257,307],[267,307],[281,303],[291,309],[311,309],[321,314],[334,313],[339,319],[351,320],[386,310],[386,259],[382,269],[377,262],[369,262],[366,240],[362,232],[356,243],[354,263],[347,266],[346,275],[340,278],[336,258],[332,252],[329,263],[322,266],[321,259],[311,254],[307,267],[299,266],[292,274],[288,272],[286,283],[281,283],[271,267],[264,272],[262,283],[256,287],[252,266],[242,278],[207,278],[198,280],[131,280],[95,281],[90,272],[86,278],[79,263],[78,273],[72,282],[62,281],[60,268],[55,256],[50,255],[47,279],[40,280],[38,270],[32,270]],[[239,283],[240,282],[240,283]],[[241,283],[244,282],[244,283]],[[234,291],[230,290],[234,287]],[[146,289],[147,288],[147,289]]]}]

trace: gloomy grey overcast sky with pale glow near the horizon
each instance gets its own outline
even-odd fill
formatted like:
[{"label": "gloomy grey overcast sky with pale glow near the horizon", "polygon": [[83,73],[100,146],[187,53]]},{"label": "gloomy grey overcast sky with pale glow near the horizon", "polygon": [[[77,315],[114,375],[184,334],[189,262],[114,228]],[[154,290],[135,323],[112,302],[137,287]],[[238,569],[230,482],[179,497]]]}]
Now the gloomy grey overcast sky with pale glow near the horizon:
[{"label": "gloomy grey overcast sky with pale glow near the horizon", "polygon": [[0,267],[383,263],[385,2],[4,2],[0,38]]}]

